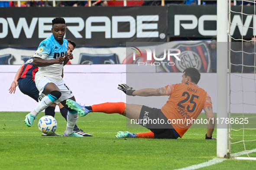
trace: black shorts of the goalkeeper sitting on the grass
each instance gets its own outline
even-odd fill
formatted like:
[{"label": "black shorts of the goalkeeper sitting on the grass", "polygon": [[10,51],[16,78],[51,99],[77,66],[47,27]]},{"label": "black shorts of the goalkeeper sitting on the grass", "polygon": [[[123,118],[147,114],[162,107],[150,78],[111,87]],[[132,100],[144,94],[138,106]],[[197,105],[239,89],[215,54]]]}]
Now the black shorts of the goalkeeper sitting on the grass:
[{"label": "black shorts of the goalkeeper sitting on the grass", "polygon": [[178,132],[168,122],[160,109],[144,106],[141,108],[140,125],[154,132],[155,139],[177,139]]}]

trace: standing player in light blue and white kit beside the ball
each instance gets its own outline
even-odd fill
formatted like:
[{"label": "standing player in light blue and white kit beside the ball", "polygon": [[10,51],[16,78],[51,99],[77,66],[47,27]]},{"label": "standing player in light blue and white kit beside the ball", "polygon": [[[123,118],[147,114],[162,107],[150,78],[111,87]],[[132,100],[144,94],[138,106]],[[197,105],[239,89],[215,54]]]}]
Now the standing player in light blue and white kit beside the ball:
[{"label": "standing player in light blue and white kit beside the ball", "polygon": [[[68,108],[66,100],[75,100],[71,89],[65,84],[62,79],[63,66],[68,63],[68,60],[73,59],[73,54],[68,51],[68,41],[64,39],[66,33],[66,24],[63,18],[55,18],[52,20],[52,35],[42,41],[33,55],[33,66],[39,67],[36,73],[35,82],[36,88],[40,94],[45,94],[42,101],[36,108],[26,115],[24,120],[27,126],[32,126],[33,121],[39,112],[47,108],[50,104],[61,103],[68,109],[67,127],[64,136],[83,137],[73,131],[73,128],[78,119],[78,112]],[[79,114],[84,114],[84,110],[80,110]]]}]

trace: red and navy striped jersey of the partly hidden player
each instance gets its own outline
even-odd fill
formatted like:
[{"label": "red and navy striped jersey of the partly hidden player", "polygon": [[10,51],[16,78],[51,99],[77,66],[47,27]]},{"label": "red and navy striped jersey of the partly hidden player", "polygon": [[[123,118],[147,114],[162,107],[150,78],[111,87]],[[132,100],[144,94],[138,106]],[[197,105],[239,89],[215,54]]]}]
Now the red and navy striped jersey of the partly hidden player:
[{"label": "red and navy striped jersey of the partly hidden player", "polygon": [[22,66],[21,72],[19,74],[19,79],[21,78],[32,78],[35,81],[35,75],[38,71],[38,67],[33,66],[34,57],[30,57],[29,60]]}]

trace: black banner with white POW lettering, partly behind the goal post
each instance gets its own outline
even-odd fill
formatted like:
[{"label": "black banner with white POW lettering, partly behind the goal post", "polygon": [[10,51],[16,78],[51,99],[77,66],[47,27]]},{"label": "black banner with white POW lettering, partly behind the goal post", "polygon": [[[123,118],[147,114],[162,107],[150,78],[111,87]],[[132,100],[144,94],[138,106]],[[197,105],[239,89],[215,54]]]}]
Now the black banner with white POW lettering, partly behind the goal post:
[{"label": "black banner with white POW lettering, partly behind the goal post", "polygon": [[[233,38],[252,38],[256,35],[253,6],[243,6],[248,14],[238,13],[242,6],[231,6],[230,35]],[[243,27],[242,27],[243,25]],[[213,38],[217,37],[216,5],[178,5],[168,7],[168,35],[170,37]]]}]

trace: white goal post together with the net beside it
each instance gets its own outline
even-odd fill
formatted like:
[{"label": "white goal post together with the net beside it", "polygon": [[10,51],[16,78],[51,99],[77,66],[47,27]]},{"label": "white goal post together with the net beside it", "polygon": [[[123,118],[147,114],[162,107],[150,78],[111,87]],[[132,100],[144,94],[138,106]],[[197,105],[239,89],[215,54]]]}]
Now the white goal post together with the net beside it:
[{"label": "white goal post together with the net beside it", "polygon": [[[256,160],[256,0],[232,8],[231,2],[217,0],[217,119],[227,120],[216,122],[217,157]],[[233,22],[235,17],[241,22]],[[236,27],[243,34],[233,35]],[[238,119],[247,123],[234,123]]]}]

